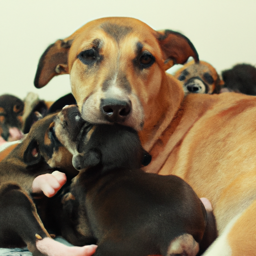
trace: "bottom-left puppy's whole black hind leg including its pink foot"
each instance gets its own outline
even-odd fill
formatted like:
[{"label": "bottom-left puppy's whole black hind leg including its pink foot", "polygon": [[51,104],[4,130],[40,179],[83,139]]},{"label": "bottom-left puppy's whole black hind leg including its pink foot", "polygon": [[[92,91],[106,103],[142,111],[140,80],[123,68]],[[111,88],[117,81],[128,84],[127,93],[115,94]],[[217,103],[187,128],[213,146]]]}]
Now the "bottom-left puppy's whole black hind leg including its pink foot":
[{"label": "bottom-left puppy's whole black hind leg including its pink foot", "polygon": [[96,245],[66,246],[50,238],[29,196],[16,184],[0,187],[0,246],[24,246],[35,256],[90,256]]}]

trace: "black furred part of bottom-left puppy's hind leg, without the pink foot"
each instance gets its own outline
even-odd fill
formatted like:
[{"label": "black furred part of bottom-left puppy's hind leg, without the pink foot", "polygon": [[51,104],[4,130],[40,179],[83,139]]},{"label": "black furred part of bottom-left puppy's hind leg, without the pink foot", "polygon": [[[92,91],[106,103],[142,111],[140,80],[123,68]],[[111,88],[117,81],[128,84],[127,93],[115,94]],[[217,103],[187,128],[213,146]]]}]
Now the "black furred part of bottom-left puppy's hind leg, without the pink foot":
[{"label": "black furred part of bottom-left puppy's hind leg, without the pink foot", "polygon": [[42,255],[35,247],[36,239],[49,237],[30,197],[18,185],[0,187],[0,245],[27,245],[34,255]]}]

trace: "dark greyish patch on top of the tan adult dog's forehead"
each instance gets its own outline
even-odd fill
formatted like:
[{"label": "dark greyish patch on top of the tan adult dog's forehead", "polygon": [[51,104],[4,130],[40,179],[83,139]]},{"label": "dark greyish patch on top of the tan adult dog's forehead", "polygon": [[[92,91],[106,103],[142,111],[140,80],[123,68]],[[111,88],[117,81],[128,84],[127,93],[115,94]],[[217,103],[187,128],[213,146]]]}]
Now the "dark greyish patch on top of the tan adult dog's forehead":
[{"label": "dark greyish patch on top of the tan adult dog's forehead", "polygon": [[105,22],[100,27],[117,42],[132,31],[131,26],[118,25],[110,22]]}]

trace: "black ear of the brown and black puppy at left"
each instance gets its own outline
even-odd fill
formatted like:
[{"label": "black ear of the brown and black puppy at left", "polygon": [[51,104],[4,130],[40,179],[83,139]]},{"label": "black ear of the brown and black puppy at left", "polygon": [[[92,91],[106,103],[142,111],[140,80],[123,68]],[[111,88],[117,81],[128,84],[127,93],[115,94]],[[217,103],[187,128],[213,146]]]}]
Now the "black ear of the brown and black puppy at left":
[{"label": "black ear of the brown and black puppy at left", "polygon": [[27,165],[33,165],[38,163],[41,158],[38,143],[35,139],[32,139],[23,154],[23,161]]}]

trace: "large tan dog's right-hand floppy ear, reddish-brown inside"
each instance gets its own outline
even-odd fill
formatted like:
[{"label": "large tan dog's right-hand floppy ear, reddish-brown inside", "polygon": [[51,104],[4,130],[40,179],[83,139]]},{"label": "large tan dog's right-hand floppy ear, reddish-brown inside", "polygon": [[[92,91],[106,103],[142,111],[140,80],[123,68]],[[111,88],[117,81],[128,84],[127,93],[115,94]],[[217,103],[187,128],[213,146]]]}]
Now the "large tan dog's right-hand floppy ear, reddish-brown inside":
[{"label": "large tan dog's right-hand floppy ear, reddish-brown inside", "polygon": [[159,45],[164,54],[164,68],[167,70],[174,64],[184,64],[192,56],[199,61],[198,53],[191,41],[179,32],[172,30],[158,31]]}]

